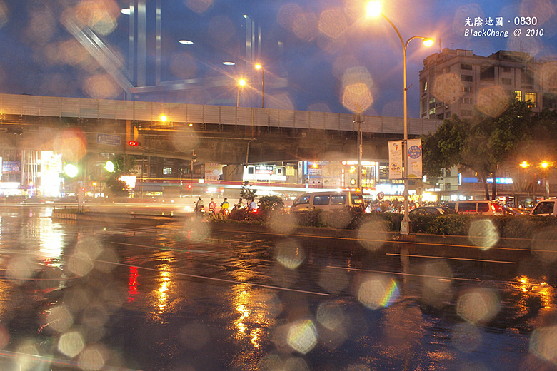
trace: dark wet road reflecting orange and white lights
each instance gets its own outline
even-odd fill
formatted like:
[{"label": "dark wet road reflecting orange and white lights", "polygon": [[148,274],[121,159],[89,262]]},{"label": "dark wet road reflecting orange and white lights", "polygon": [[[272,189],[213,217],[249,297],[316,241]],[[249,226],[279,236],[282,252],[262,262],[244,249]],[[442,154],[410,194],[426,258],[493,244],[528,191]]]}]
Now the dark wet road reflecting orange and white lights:
[{"label": "dark wet road reflecting orange and white lights", "polygon": [[0,370],[557,369],[552,251],[50,213],[0,207]]}]

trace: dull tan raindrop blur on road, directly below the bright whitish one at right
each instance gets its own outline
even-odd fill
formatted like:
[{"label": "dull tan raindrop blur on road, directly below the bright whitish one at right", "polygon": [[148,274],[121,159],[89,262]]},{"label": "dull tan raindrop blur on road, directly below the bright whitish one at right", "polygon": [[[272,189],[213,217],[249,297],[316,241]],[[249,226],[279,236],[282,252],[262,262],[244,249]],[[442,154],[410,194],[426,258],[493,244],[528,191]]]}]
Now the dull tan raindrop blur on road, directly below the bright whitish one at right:
[{"label": "dull tan raindrop blur on road, directly below the bright whitish one at right", "polygon": [[495,290],[472,288],[459,293],[456,313],[473,324],[483,324],[492,320],[501,305]]}]

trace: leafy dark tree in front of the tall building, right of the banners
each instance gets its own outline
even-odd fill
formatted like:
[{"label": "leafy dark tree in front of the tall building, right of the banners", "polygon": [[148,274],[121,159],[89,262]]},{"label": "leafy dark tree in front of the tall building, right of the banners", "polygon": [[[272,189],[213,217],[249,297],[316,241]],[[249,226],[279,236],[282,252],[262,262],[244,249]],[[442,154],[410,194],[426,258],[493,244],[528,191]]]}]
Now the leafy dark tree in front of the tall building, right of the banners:
[{"label": "leafy dark tree in front of the tall building, right of the banners", "polygon": [[495,198],[496,183],[490,197],[487,178],[496,179],[499,165],[531,140],[531,120],[529,103],[516,99],[495,118],[476,115],[461,120],[453,115],[435,133],[423,137],[424,172],[436,177],[455,166],[468,168],[481,179],[486,199]]}]

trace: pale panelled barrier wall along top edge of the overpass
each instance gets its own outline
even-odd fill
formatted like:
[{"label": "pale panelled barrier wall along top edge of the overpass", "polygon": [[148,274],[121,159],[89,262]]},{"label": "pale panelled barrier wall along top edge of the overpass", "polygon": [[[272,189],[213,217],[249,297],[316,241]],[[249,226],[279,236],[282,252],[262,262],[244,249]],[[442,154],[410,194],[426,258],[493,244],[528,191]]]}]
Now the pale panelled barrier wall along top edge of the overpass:
[{"label": "pale panelled barrier wall along top edge of the overpass", "polygon": [[[351,113],[291,111],[274,108],[244,108],[184,103],[114,101],[91,98],[66,98],[0,94],[0,113],[58,118],[93,118],[131,121],[160,121],[164,114],[170,122],[211,123],[237,126],[354,131]],[[402,133],[399,117],[362,116],[361,131]],[[435,132],[441,120],[408,118],[408,134]]]}]

